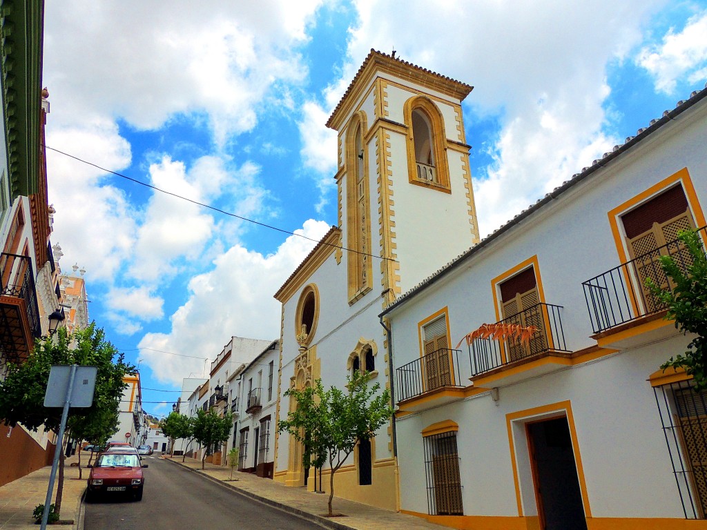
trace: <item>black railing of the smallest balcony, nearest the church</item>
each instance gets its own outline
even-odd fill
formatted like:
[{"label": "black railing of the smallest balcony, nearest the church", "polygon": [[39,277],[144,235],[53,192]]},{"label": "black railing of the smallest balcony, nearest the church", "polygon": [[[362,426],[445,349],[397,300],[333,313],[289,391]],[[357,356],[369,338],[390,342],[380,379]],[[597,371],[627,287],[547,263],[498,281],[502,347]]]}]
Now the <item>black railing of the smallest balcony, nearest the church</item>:
[{"label": "black railing of the smallest balcony, nearest the church", "polygon": [[460,350],[442,348],[395,370],[395,401],[404,401],[441,387],[464,387]]}]

